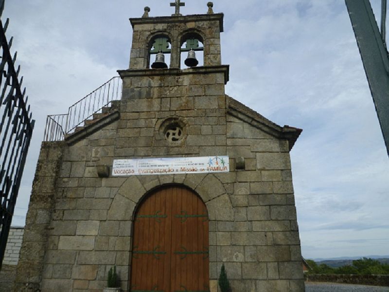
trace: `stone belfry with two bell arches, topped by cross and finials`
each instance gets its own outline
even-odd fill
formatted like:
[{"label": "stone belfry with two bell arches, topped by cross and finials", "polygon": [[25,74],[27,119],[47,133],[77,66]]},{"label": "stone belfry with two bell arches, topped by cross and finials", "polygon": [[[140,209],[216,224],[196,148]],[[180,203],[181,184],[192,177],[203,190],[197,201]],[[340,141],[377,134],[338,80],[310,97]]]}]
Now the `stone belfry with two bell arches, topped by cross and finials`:
[{"label": "stone belfry with two bell arches, topped by cross and finials", "polygon": [[[158,53],[171,54],[167,67],[179,69],[181,52],[184,51],[203,51],[204,67],[220,66],[220,33],[223,32],[224,15],[214,14],[212,6],[209,2],[207,14],[189,16],[182,16],[177,6],[176,13],[171,17],[149,17],[150,8],[145,7],[142,18],[130,19],[133,38],[129,69],[150,68],[151,55]],[[186,44],[185,48],[182,48],[183,44]],[[194,66],[191,64],[189,67]]]}]

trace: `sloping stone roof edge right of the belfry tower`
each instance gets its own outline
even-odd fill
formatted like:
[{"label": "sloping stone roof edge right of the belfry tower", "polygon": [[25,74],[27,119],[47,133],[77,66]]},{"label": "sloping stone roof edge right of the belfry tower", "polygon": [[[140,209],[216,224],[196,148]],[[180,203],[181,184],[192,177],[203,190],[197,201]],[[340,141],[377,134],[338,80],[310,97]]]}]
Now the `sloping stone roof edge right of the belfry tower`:
[{"label": "sloping stone roof edge right of the belfry tower", "polygon": [[255,128],[259,128],[264,132],[279,138],[286,139],[289,141],[289,151],[292,150],[297,138],[299,138],[302,129],[289,127],[287,125],[281,127],[272,121],[266,119],[263,115],[259,114],[255,110],[251,110],[244,104],[240,103],[236,99],[226,95],[227,104],[228,104],[228,112],[242,120],[250,124]]}]

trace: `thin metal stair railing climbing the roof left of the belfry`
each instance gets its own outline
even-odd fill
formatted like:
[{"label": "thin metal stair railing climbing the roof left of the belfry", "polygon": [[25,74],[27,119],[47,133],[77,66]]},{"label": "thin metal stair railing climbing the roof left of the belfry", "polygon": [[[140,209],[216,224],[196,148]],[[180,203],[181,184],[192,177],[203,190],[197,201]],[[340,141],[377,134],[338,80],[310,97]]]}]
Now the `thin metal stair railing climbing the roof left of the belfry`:
[{"label": "thin metal stair railing climbing the roof left of the belfry", "polygon": [[61,141],[65,135],[71,134],[77,127],[93,116],[109,107],[113,100],[122,96],[122,79],[112,77],[102,86],[90,92],[68,109],[68,113],[47,116],[44,141]]}]

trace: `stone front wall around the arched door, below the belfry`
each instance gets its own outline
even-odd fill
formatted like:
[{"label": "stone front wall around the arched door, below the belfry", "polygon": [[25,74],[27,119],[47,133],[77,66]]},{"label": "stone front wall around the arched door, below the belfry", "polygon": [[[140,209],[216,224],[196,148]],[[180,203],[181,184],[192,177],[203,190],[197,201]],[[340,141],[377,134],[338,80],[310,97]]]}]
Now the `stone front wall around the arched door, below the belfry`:
[{"label": "stone front wall around the arched door, below the belfry", "polygon": [[[101,292],[113,265],[126,291],[133,213],[148,191],[169,183],[192,188],[207,205],[212,292],[222,263],[234,292],[303,291],[288,142],[227,114],[223,73],[129,79],[120,120],[64,148],[42,291]],[[184,121],[183,142],[163,138],[171,117]],[[230,173],[99,178],[96,171],[114,159],[181,155],[229,155]],[[235,169],[240,157],[245,170]]]}]

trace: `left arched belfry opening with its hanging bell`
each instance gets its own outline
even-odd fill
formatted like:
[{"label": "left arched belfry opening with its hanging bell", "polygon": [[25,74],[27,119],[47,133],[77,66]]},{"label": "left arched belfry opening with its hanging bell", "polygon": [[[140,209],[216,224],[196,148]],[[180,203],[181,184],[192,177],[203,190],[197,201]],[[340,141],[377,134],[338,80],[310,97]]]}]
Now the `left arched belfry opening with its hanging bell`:
[{"label": "left arched belfry opening with its hanging bell", "polygon": [[168,36],[157,35],[149,42],[147,68],[166,69],[170,67],[172,43]]}]

